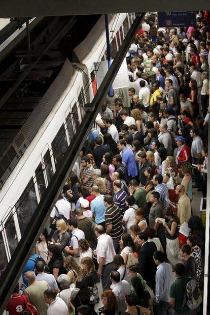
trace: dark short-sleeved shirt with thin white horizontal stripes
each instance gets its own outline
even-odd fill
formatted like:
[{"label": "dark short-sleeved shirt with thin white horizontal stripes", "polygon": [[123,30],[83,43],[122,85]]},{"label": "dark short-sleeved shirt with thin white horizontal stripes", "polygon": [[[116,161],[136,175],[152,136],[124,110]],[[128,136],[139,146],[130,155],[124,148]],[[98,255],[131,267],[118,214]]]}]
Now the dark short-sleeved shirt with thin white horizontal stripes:
[{"label": "dark short-sleeved shirt with thin white horizontal stripes", "polygon": [[112,224],[112,231],[109,235],[113,239],[119,239],[123,234],[121,213],[119,207],[116,205],[109,207],[105,212],[106,227]]}]

